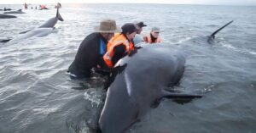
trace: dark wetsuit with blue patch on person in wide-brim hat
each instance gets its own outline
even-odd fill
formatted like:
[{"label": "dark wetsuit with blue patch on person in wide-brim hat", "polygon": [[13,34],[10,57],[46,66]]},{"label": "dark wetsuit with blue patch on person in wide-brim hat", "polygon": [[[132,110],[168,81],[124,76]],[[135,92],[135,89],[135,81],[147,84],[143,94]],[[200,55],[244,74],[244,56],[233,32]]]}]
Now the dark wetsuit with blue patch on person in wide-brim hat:
[{"label": "dark wetsuit with blue patch on person in wide-brim hat", "polygon": [[102,69],[107,68],[102,58],[106,53],[106,47],[107,40],[100,33],[91,33],[86,36],[67,72],[80,79],[90,77],[92,68],[97,68],[97,66]]}]

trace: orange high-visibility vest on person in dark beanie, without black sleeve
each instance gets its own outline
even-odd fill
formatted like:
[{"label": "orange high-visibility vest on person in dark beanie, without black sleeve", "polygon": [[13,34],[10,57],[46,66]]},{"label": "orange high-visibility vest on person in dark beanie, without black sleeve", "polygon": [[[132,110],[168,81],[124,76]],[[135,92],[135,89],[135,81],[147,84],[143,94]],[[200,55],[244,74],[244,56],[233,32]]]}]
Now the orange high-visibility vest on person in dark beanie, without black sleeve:
[{"label": "orange high-visibility vest on person in dark beanie, without black sleeve", "polygon": [[113,68],[112,58],[113,58],[113,48],[119,45],[125,45],[125,53],[130,53],[134,50],[134,45],[129,42],[123,34],[116,34],[108,42],[107,53],[104,54],[103,59],[109,68]]}]

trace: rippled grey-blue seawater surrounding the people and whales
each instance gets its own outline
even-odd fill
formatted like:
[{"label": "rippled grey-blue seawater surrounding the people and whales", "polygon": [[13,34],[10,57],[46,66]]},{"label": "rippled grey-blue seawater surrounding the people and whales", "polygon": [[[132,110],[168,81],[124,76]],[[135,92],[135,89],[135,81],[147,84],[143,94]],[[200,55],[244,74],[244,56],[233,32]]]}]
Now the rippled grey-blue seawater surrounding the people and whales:
[{"label": "rippled grey-blue seawater surrounding the people and whales", "polygon": [[[22,8],[0,5],[0,8]],[[55,16],[24,10],[0,19],[0,37],[19,36]],[[2,13],[2,11],[0,11]],[[71,80],[67,68],[84,37],[104,18],[160,26],[163,42],[188,56],[176,89],[203,94],[189,103],[164,99],[132,125],[131,133],[256,132],[256,8],[168,4],[63,4],[56,32],[15,44],[0,43],[0,132],[95,132],[106,77]],[[220,26],[234,20],[206,42]]]}]

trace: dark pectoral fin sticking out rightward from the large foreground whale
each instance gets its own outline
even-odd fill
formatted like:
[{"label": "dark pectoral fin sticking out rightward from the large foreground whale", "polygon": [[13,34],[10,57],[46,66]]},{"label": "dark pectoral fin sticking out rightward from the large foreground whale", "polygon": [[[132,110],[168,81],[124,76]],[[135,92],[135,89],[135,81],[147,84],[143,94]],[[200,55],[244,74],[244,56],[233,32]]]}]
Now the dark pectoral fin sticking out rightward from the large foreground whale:
[{"label": "dark pectoral fin sticking out rightward from the large foreground whale", "polygon": [[201,98],[202,96],[198,94],[185,94],[185,93],[177,93],[177,92],[162,90],[162,97],[193,99],[193,98]]}]

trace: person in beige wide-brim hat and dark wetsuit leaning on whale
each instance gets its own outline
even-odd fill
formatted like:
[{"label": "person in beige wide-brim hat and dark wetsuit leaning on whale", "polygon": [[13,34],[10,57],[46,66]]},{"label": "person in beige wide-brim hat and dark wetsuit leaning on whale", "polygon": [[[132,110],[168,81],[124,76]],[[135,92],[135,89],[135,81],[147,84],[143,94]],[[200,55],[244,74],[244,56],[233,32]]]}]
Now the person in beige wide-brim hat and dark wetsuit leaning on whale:
[{"label": "person in beige wide-brim hat and dark wetsuit leaning on whale", "polygon": [[107,43],[115,32],[122,30],[117,27],[113,19],[103,19],[95,30],[96,32],[84,38],[73,63],[68,68],[67,72],[71,74],[72,79],[90,77],[93,68],[108,69],[102,58],[106,53]]}]

